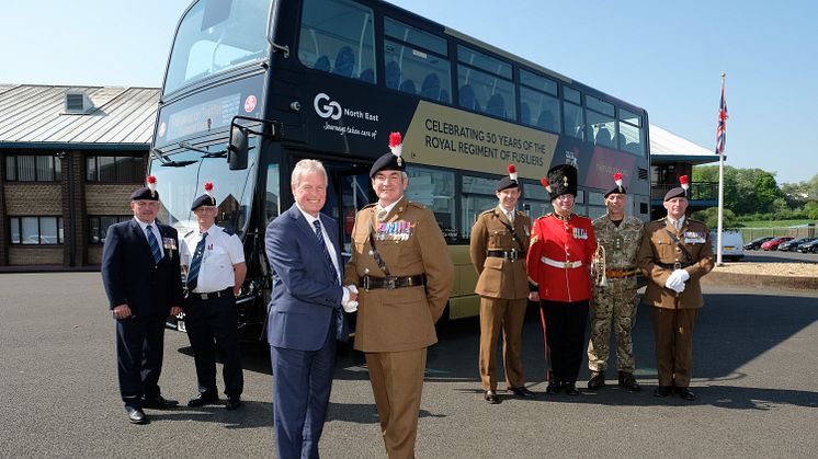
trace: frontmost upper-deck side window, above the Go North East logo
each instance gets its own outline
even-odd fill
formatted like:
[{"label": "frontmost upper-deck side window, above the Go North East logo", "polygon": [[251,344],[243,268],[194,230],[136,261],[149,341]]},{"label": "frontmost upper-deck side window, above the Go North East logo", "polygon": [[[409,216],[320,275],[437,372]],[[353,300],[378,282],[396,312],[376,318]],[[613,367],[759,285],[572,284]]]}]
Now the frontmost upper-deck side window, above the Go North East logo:
[{"label": "frontmost upper-deck side window, above the Go North East logo", "polygon": [[346,0],[305,0],[298,59],[306,67],[377,81],[375,32],[368,8]]}]

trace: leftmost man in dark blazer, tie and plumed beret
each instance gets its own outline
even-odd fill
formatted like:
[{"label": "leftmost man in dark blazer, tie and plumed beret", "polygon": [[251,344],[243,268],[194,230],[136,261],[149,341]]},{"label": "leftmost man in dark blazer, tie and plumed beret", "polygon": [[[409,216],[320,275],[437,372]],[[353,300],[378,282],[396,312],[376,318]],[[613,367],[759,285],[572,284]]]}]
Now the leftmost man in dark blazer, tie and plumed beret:
[{"label": "leftmost man in dark blazer, tie and plumed beret", "polygon": [[156,179],[130,195],[134,218],[112,225],[102,250],[102,282],[116,320],[120,394],[128,421],[147,424],[144,408],[179,404],[159,390],[164,320],[182,311],[177,230],[156,221]]}]

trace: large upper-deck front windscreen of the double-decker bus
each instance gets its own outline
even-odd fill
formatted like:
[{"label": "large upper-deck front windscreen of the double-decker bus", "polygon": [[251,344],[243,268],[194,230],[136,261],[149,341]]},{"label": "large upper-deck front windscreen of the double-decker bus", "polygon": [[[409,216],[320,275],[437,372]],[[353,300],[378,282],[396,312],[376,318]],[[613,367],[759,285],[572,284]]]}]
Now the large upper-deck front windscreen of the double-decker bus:
[{"label": "large upper-deck front windscreen of the double-decker bus", "polygon": [[164,94],[263,60],[272,0],[200,0],[182,18],[164,80]]}]

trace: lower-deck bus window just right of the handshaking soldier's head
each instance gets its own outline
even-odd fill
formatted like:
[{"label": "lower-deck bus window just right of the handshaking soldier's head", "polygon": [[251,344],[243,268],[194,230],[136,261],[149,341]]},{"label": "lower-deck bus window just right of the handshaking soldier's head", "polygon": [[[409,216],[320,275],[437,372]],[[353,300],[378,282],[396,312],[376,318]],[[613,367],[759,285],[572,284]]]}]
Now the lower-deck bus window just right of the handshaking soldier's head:
[{"label": "lower-deck bus window just right of the handshaking soldier's head", "polygon": [[406,173],[409,175],[406,198],[431,209],[446,241],[456,240],[454,172],[409,165],[406,168]]}]

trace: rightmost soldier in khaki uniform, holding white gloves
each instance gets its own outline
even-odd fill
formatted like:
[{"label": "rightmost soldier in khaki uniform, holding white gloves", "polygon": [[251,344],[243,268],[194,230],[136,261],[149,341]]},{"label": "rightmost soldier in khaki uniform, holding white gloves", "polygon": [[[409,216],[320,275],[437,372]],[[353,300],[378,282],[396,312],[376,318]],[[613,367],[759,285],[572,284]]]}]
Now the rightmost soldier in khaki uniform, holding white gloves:
[{"label": "rightmost soldier in khaki uniform, holding white gloves", "polygon": [[[686,184],[686,176],[682,176]],[[695,400],[689,389],[693,365],[693,325],[704,303],[698,280],[713,269],[707,226],[685,217],[686,187],[664,195],[666,218],[645,227],[637,265],[648,277],[643,302],[652,306],[656,333],[656,397],[671,389],[684,400]]]}]

